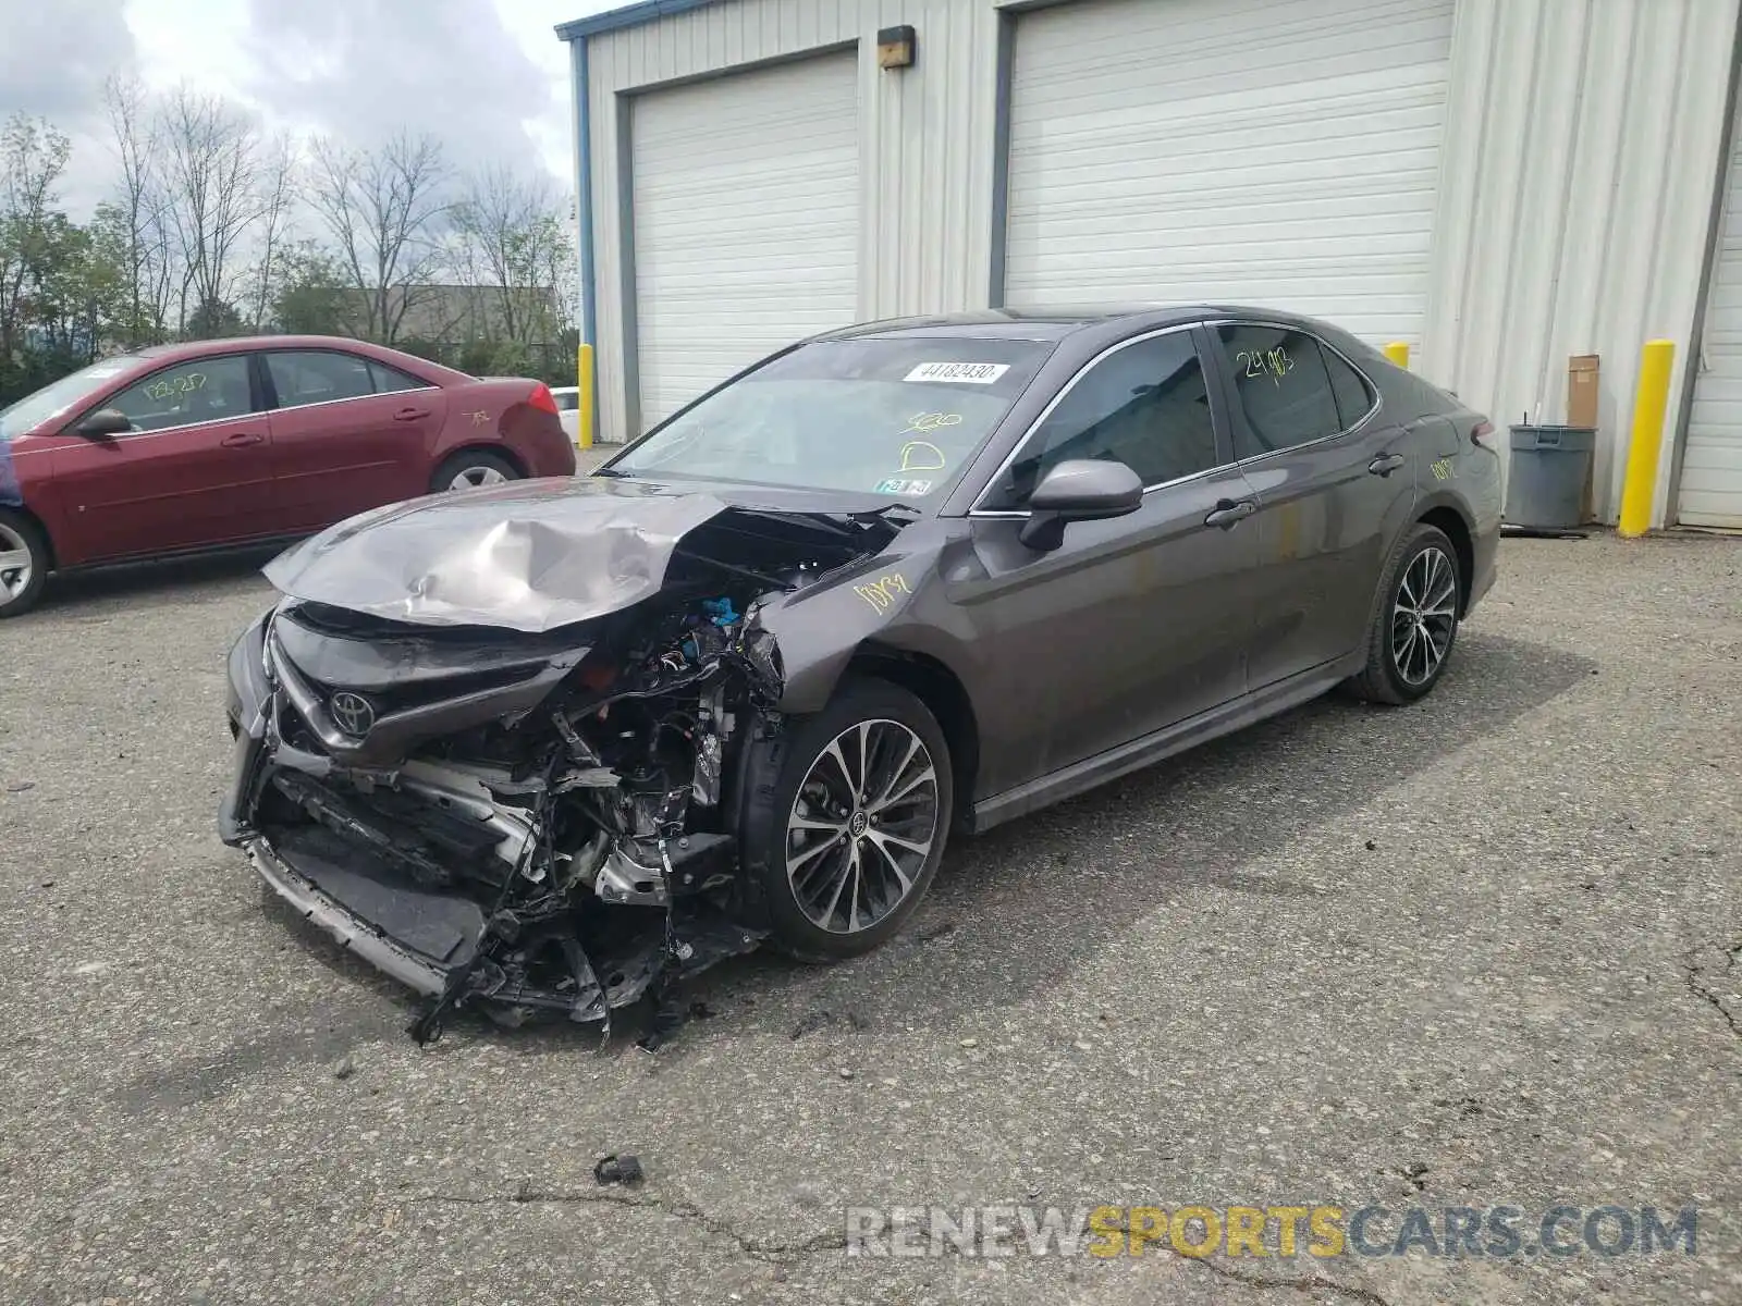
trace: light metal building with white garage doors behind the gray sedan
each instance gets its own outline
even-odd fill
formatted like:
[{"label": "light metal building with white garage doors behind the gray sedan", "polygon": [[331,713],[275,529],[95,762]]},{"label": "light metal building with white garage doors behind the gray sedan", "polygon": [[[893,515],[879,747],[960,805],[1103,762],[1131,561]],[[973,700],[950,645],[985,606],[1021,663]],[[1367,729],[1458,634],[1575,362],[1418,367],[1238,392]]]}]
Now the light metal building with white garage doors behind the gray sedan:
[{"label": "light metal building with white garage doors behind the gray sedan", "polygon": [[1742,528],[1739,10],[646,0],[564,24],[599,434],[852,320],[1246,301],[1408,341],[1496,423],[1564,420],[1568,357],[1601,355],[1606,521],[1639,348],[1671,340],[1655,524]]}]

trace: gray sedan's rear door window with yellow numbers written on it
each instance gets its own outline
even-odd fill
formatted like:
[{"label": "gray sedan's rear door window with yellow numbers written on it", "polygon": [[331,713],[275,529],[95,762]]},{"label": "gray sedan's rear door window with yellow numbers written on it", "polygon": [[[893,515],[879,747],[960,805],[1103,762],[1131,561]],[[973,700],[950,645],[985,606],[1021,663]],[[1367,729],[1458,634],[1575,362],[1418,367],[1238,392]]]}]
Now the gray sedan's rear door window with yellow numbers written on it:
[{"label": "gray sedan's rear door window with yellow numbers written on it", "polygon": [[1312,444],[1343,430],[1331,374],[1313,336],[1258,322],[1225,324],[1214,331],[1246,418],[1233,432],[1240,460]]}]

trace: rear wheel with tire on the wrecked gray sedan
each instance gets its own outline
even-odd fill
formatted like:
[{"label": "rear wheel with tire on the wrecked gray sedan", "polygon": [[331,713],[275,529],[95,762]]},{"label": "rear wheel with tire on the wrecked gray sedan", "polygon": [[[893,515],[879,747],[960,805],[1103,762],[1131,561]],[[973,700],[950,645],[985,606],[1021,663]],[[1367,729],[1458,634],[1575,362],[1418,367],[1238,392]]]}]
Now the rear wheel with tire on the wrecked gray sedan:
[{"label": "rear wheel with tire on the wrecked gray sedan", "polygon": [[1397,542],[1380,578],[1367,665],[1348,679],[1348,690],[1394,707],[1432,693],[1458,643],[1462,603],[1458,550],[1442,529],[1418,522]]}]

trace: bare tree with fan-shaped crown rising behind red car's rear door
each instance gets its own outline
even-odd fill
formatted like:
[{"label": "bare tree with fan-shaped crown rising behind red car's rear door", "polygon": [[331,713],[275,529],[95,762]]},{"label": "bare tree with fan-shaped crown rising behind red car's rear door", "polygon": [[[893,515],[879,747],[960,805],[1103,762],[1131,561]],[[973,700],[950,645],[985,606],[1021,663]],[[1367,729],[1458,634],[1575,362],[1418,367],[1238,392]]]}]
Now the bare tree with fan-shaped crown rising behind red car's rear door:
[{"label": "bare tree with fan-shaped crown rising behind red car's rear door", "polygon": [[441,265],[436,226],[448,212],[441,145],[401,132],[378,150],[357,151],[322,138],[310,160],[308,202],[338,247],[362,333],[394,345]]}]

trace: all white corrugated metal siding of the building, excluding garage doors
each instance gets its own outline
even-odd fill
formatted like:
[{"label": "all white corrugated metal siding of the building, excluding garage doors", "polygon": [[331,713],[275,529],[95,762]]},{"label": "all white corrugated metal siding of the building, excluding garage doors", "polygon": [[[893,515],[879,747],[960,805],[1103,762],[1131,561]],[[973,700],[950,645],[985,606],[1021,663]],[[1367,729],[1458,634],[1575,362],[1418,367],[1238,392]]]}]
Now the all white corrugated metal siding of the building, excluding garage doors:
[{"label": "all white corrugated metal siding of the building, excluding garage doors", "polygon": [[[1165,3],[1165,0],[1153,0]],[[1639,347],[1678,343],[1672,430],[1711,246],[1742,0],[1458,0],[1418,369],[1496,423],[1559,421],[1603,355],[1594,507],[1613,521]],[[989,301],[1003,0],[730,0],[591,38],[598,359],[625,434],[618,92],[859,44],[861,315]],[[876,68],[880,26],[918,64]],[[1672,453],[1665,441],[1658,517]]]}]

